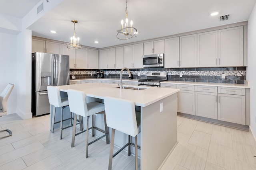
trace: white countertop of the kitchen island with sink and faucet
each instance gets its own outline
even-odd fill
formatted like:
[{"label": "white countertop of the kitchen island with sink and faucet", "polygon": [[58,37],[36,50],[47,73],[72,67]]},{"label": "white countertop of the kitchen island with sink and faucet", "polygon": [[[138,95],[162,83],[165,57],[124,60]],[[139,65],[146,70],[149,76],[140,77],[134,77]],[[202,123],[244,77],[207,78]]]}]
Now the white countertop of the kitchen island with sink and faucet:
[{"label": "white countertop of the kitchen island with sink and faucet", "polygon": [[136,106],[146,107],[153,104],[167,96],[176,94],[179,89],[173,88],[156,88],[156,87],[144,87],[144,86],[129,86],[127,87],[137,87],[146,88],[145,90],[132,90],[132,89],[122,89],[117,88],[116,84],[102,84],[102,83],[86,83],[86,84],[72,84],[58,86],[62,92],[67,92],[68,89],[84,91],[87,96],[93,98],[104,99],[106,96],[114,98],[122,98],[126,100],[131,100],[135,102]]}]

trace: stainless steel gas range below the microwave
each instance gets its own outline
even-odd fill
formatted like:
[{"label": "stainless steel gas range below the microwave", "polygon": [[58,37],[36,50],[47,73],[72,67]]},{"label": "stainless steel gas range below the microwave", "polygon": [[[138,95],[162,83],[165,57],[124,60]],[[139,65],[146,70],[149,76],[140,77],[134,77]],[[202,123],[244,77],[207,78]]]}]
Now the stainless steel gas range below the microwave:
[{"label": "stainless steel gas range below the microwave", "polygon": [[167,72],[147,72],[146,79],[138,80],[138,86],[160,87],[163,81],[167,81]]}]

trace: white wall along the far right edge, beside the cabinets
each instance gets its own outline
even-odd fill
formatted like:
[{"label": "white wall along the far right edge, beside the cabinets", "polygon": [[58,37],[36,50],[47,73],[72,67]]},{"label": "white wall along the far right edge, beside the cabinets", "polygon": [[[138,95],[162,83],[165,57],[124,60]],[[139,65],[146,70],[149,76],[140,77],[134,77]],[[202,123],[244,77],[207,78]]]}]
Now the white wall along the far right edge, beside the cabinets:
[{"label": "white wall along the far right edge, beside the cabinets", "polygon": [[248,67],[246,70],[246,80],[250,81],[250,126],[252,133],[256,136],[256,5],[248,20]]}]

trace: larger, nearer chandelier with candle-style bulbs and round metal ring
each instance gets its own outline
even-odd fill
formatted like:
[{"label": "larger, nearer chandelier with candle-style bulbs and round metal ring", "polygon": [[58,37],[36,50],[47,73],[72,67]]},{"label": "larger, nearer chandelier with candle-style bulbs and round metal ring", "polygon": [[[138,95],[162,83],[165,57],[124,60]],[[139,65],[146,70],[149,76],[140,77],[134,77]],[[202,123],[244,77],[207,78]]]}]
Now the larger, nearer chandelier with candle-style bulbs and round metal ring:
[{"label": "larger, nearer chandelier with candle-style bulbs and round metal ring", "polygon": [[[124,27],[123,27],[124,24]],[[127,0],[125,9],[125,23],[124,20],[121,21],[121,29],[117,30],[116,38],[118,39],[130,39],[136,37],[137,29],[132,27],[132,20],[130,21],[130,27],[128,26],[128,10],[127,10]]]}]

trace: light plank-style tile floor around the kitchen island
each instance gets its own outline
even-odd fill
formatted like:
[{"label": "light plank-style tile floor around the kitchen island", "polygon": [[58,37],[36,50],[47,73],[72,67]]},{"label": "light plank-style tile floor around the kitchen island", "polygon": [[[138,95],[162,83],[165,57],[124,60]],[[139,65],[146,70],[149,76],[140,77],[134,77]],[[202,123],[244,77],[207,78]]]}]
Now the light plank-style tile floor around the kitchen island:
[{"label": "light plank-style tile floor around the kitchen island", "polygon": [[[161,170],[256,170],[256,141],[252,133],[177,117],[178,144]],[[0,117],[0,129],[11,137],[0,139],[0,170],[106,170],[109,145],[100,140],[89,146],[85,158],[85,133],[71,148],[72,129],[50,133],[50,115],[22,120]],[[0,134],[0,137],[4,133]],[[90,137],[91,138],[91,137]],[[134,169],[134,156],[122,151],[113,160],[114,170]]]}]

